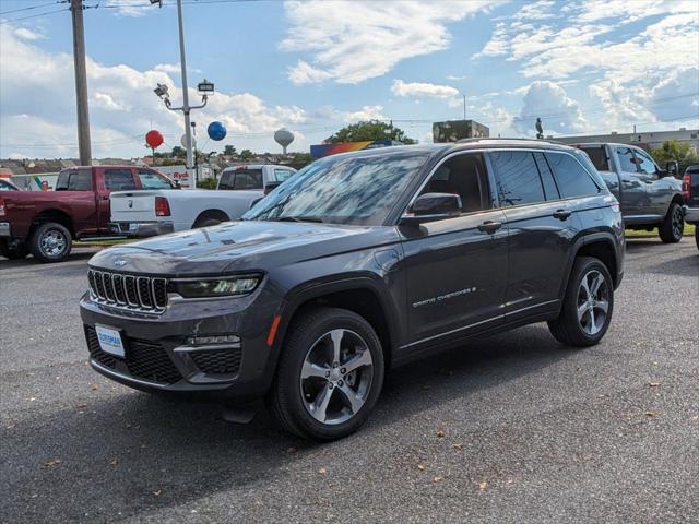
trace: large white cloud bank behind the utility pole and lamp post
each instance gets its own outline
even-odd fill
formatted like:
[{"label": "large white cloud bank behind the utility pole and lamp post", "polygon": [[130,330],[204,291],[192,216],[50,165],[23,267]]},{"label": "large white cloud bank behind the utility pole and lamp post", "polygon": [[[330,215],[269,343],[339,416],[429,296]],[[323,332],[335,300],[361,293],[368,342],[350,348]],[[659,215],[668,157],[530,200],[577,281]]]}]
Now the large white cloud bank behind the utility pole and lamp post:
[{"label": "large white cloud bank behind the utility pole and lamp post", "polygon": [[[9,24],[0,25],[2,74],[0,74],[0,156],[26,152],[34,156],[76,155],[73,59],[68,53],[46,52],[17,37]],[[153,94],[153,86],[170,86],[175,104],[181,91],[164,71],[139,71],[125,64],[105,66],[87,58],[87,88],[93,154],[135,156],[144,153],[143,134],[158,129],[166,146],[179,142],[181,114],[169,111]],[[190,99],[197,100],[194,88]],[[236,145],[268,138],[282,126],[307,120],[297,106],[270,107],[250,93],[217,92],[203,110],[192,114],[200,134],[213,120],[222,120]],[[245,135],[245,136],[241,136]]]}]

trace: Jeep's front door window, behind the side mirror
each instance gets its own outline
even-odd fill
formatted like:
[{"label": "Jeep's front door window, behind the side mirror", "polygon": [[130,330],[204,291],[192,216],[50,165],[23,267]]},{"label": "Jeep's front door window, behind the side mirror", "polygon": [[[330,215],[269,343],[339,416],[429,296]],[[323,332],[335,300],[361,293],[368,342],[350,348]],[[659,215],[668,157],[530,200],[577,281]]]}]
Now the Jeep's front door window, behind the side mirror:
[{"label": "Jeep's front door window, behind the side mirror", "polygon": [[479,154],[458,155],[437,168],[423,188],[424,193],[452,193],[461,196],[461,212],[489,210],[488,182]]}]

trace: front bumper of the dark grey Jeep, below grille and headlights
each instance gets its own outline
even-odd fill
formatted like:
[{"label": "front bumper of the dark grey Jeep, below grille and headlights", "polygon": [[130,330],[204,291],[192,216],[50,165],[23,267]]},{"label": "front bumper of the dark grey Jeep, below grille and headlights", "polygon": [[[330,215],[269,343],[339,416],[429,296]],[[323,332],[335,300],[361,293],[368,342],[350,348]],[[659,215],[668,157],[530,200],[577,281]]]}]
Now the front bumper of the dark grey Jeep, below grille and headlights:
[{"label": "front bumper of the dark grey Jeep, below grille and headlights", "polygon": [[[90,364],[117,382],[182,400],[245,404],[265,394],[276,362],[266,345],[276,306],[257,303],[258,291],[230,300],[175,301],[162,314],[118,311],[95,302],[90,293],[80,302]],[[266,303],[266,306],[264,306]],[[125,356],[99,347],[95,324],[120,332]],[[192,346],[192,335],[236,334],[240,343]]]}]

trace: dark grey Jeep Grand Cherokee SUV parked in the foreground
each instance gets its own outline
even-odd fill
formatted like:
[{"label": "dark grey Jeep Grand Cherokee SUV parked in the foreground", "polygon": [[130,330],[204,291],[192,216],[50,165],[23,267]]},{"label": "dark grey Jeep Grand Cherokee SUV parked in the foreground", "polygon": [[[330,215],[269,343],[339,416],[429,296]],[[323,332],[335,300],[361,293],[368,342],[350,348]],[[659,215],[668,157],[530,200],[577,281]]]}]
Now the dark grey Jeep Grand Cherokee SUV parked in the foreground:
[{"label": "dark grey Jeep Grand Cherokee SUV parked in the foreground", "polygon": [[475,140],[315,162],[239,222],[104,250],[81,313],[95,370],[185,398],[264,397],[321,440],[389,368],[547,321],[589,346],[623,276],[619,204],[582,152]]}]

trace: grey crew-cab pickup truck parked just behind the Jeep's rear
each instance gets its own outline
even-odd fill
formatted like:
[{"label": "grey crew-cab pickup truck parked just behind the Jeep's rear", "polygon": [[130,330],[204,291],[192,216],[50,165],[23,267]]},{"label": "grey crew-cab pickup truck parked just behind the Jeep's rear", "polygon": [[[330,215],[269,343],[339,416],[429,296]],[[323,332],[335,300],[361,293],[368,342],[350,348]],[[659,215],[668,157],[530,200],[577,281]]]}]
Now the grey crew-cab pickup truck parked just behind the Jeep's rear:
[{"label": "grey crew-cab pickup truck parked just behind the Jeep's rear", "polygon": [[657,227],[663,242],[678,242],[685,228],[682,182],[677,163],[665,169],[640,147],[628,144],[576,144],[597,168],[609,190],[621,203],[628,229]]}]

